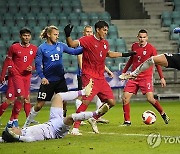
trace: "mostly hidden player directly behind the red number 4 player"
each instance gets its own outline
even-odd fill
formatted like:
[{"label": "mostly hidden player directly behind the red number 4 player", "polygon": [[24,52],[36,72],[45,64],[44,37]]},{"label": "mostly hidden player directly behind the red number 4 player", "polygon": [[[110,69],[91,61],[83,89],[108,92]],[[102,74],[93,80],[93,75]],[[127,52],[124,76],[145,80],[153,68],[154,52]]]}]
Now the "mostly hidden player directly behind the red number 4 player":
[{"label": "mostly hidden player directly behind the red number 4 player", "polygon": [[[93,35],[93,28],[92,26],[85,26],[84,27],[84,30],[83,30],[83,36],[89,36],[89,35]],[[81,90],[82,89],[82,79],[81,79],[81,70],[82,70],[82,54],[78,55],[77,56],[77,59],[78,59],[78,70],[77,70],[77,79],[78,79],[78,90]],[[106,66],[105,66],[105,71],[108,73],[108,75],[110,77],[113,77],[113,72],[111,72]],[[101,100],[99,99],[98,96],[95,96],[95,103],[96,103],[96,109],[98,109],[103,103],[101,102]],[[79,106],[82,104],[82,97],[78,97],[76,99],[76,108],[78,109]],[[103,118],[98,118],[96,120],[97,122],[101,122],[101,123],[109,123],[108,120],[106,119],[103,119]],[[81,121],[81,125],[84,125],[86,124],[84,121]],[[74,132],[71,132],[73,135]]]}]

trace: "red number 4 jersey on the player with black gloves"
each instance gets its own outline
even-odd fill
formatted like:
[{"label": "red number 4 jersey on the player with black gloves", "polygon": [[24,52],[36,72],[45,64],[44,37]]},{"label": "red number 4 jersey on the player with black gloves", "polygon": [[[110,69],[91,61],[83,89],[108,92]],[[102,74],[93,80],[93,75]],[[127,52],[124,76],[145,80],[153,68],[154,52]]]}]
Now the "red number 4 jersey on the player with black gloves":
[{"label": "red number 4 jersey on the player with black gloves", "polygon": [[99,40],[95,36],[84,36],[79,39],[83,47],[82,74],[96,79],[104,78],[105,59],[109,51],[107,40]]}]

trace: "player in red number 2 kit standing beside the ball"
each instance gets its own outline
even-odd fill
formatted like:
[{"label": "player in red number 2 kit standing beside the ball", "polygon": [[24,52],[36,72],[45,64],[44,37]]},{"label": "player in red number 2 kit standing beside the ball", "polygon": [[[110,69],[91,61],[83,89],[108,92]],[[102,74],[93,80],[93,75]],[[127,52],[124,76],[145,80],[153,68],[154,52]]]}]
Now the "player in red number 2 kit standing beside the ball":
[{"label": "player in red number 2 kit standing beside the ball", "polygon": [[[138,42],[135,42],[132,45],[132,51],[135,51],[137,54],[132,56],[127,62],[125,68],[122,71],[122,76],[129,67],[132,65],[132,71],[135,70],[139,65],[146,61],[149,57],[157,55],[155,47],[148,43],[148,33],[146,30],[141,29],[138,32]],[[166,86],[165,79],[163,77],[162,69],[159,65],[156,65],[162,87]],[[148,70],[143,71],[137,76],[135,80],[128,80],[124,88],[122,102],[123,102],[123,111],[124,111],[124,123],[123,126],[130,126],[130,99],[133,94],[137,94],[138,89],[141,90],[143,95],[146,95],[147,101],[151,103],[155,109],[160,113],[164,122],[168,124],[169,117],[164,112],[158,100],[154,99],[153,94],[153,67],[150,67]]]}]

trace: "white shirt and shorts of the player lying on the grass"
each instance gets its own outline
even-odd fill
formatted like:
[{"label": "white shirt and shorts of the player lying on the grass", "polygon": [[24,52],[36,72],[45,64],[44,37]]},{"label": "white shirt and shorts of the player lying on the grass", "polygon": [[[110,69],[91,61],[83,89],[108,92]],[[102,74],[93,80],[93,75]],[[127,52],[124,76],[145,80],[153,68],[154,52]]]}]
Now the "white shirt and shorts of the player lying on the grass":
[{"label": "white shirt and shorts of the player lying on the grass", "polygon": [[70,126],[63,122],[63,109],[51,107],[49,122],[23,128],[20,140],[24,142],[63,138]]}]

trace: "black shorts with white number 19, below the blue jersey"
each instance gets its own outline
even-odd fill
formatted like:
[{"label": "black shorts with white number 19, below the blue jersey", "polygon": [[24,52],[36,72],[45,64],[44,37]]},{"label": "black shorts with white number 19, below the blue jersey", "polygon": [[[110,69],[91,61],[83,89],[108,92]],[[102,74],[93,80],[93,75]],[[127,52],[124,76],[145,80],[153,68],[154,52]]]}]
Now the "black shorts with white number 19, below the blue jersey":
[{"label": "black shorts with white number 19, below the blue jersey", "polygon": [[40,101],[51,101],[54,93],[67,92],[66,80],[62,79],[59,81],[49,82],[47,85],[40,85],[37,100]]}]

